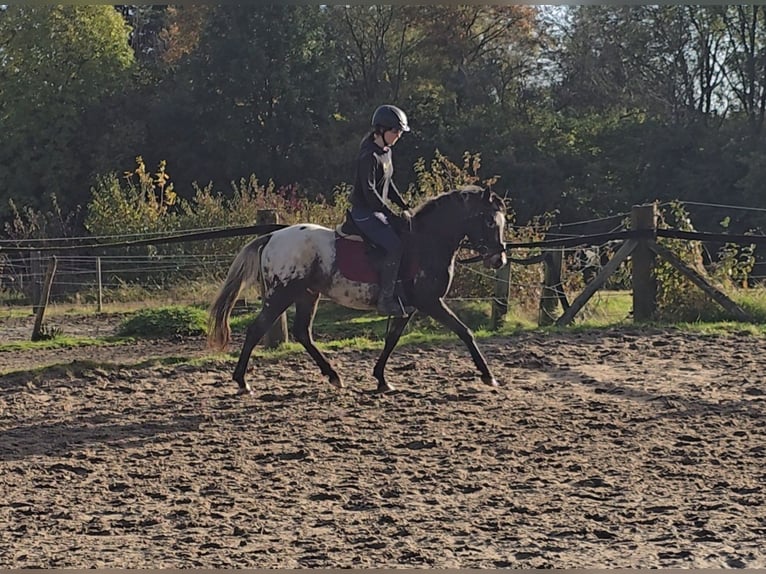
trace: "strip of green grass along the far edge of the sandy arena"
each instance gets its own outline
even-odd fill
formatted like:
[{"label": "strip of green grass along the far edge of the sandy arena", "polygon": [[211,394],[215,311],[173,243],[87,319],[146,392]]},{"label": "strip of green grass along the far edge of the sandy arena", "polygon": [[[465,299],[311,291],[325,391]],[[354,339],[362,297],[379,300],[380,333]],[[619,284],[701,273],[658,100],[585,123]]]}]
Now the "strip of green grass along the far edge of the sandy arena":
[{"label": "strip of green grass along the far edge of the sandy arena", "polygon": [[[723,310],[716,311],[705,321],[678,322],[673,324],[646,323],[634,325],[630,311],[632,297],[630,292],[597,293],[588,304],[578,313],[575,322],[568,327],[537,326],[535,313],[522,312],[513,307],[503,325],[497,330],[490,329],[490,303],[487,301],[450,301],[450,307],[473,330],[478,339],[492,336],[510,336],[524,331],[580,331],[614,327],[636,328],[676,328],[688,332],[702,334],[750,334],[766,336],[766,289],[752,289],[735,293],[735,301],[742,306],[754,319],[754,323],[741,323],[729,320]],[[0,343],[0,351],[19,351],[26,349],[58,349],[81,346],[106,346],[130,342],[137,338],[172,338],[175,336],[203,336],[206,328],[206,311],[194,305],[165,305],[152,308],[145,303],[142,306],[128,305],[130,312],[125,313],[117,336],[109,337],[73,337],[66,335],[66,323],[63,323],[63,334],[44,341],[20,341]],[[135,309],[138,308],[136,311]],[[257,305],[237,307],[234,310],[231,328],[235,333],[243,333],[247,325],[258,312]],[[559,311],[560,312],[560,311]],[[0,312],[0,318],[23,317],[29,314],[28,308],[5,308]],[[58,315],[83,315],[87,311],[79,310],[74,305],[59,308]],[[93,311],[91,310],[92,314]],[[118,313],[122,315],[121,313]],[[288,323],[293,319],[292,309],[288,311]],[[355,349],[379,350],[387,328],[386,317],[374,312],[362,312],[346,309],[329,301],[322,301],[314,320],[314,337],[320,348],[326,350]],[[455,335],[437,324],[433,319],[416,315],[407,326],[400,344],[435,346],[445,343],[459,343]],[[239,349],[230,348],[230,353],[221,354],[216,358],[211,355],[207,361],[230,361]],[[255,354],[265,360],[279,359],[285,355],[303,352],[303,348],[290,342],[276,350],[258,347]],[[182,358],[172,358],[178,362]]]}]

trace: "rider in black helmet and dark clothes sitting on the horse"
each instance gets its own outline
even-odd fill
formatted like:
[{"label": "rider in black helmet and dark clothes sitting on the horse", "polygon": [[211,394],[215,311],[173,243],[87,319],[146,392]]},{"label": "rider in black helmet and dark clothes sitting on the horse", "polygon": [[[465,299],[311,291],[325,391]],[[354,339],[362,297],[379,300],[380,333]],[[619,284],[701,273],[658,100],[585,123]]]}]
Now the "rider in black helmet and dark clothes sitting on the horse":
[{"label": "rider in black helmet and dark clothes sitting on the horse", "polygon": [[372,130],[359,146],[356,179],[350,197],[351,219],[368,239],[386,252],[380,275],[378,312],[396,317],[407,313],[394,297],[403,247],[391,227],[396,215],[390,205],[395,203],[404,210],[402,216],[405,219],[409,219],[411,213],[392,179],[391,147],[403,132],[408,131],[407,116],[401,109],[386,104],[375,110]]}]

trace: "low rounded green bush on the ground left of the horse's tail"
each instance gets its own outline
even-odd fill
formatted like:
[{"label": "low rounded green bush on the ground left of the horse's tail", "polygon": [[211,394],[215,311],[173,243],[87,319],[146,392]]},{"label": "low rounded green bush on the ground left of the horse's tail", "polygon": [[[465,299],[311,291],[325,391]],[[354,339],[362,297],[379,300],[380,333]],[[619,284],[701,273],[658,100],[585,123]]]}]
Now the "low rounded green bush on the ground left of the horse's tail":
[{"label": "low rounded green bush on the ground left of the horse's tail", "polygon": [[195,307],[169,306],[143,309],[125,319],[118,328],[121,337],[161,339],[190,337],[207,332],[207,314]]}]

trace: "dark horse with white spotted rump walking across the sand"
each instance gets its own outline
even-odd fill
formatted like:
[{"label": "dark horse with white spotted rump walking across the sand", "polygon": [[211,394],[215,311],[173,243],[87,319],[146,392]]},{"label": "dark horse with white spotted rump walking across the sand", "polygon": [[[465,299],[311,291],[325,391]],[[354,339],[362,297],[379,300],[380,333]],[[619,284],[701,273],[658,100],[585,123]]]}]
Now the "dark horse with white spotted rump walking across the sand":
[{"label": "dark horse with white spotted rump walking across the sand", "polygon": [[[502,198],[478,186],[446,191],[418,206],[407,227],[409,231],[402,234],[405,248],[400,266],[400,292],[406,305],[415,311],[391,318],[383,350],[372,371],[378,381],[376,391],[394,390],[385,378],[386,362],[407,323],[418,311],[454,332],[468,347],[481,380],[498,386],[473,333],[443,298],[452,282],[457,251],[466,245],[466,240],[467,247],[478,253],[477,260],[482,260],[486,268],[499,269],[507,264]],[[293,337],[308,351],[331,385],[344,387],[338,373],[314,344],[312,322],[320,296],[351,309],[376,307],[380,292],[376,278],[353,275],[349,278],[343,274],[339,254],[343,249],[348,250],[352,239],[342,237],[338,229],[298,223],[253,239],[234,258],[209,309],[208,343],[219,351],[226,348],[231,340],[229,319],[240,292],[260,281],[263,306],[247,327],[232,376],[239,385],[238,394],[252,394],[245,372],[253,348],[293,304]]]}]

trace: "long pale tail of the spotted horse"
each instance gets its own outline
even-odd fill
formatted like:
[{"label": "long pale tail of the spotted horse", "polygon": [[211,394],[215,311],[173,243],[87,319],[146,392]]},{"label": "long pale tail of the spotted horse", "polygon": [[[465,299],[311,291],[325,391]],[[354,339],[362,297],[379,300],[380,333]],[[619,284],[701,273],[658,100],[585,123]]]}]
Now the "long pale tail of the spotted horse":
[{"label": "long pale tail of the spotted horse", "polygon": [[218,351],[223,351],[231,341],[229,318],[242,290],[258,282],[261,275],[261,249],[269,242],[271,235],[254,239],[237,254],[229,267],[226,281],[218,292],[208,311],[207,343]]}]

